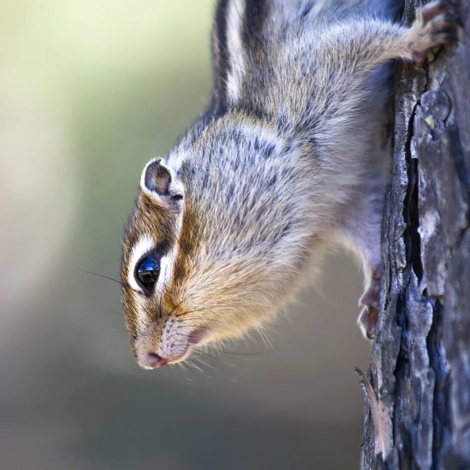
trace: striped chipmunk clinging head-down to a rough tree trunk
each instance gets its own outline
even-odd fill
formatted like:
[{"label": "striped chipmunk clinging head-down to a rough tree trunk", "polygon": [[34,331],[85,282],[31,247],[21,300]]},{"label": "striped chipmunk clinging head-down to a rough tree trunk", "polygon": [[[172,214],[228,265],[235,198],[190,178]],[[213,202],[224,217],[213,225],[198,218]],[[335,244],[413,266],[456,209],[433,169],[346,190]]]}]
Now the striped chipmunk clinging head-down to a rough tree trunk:
[{"label": "striped chipmunk clinging head-down to a rough tree trunk", "polygon": [[374,337],[389,63],[456,38],[447,2],[410,28],[392,23],[391,3],[218,1],[211,103],[145,165],[125,232],[122,303],[141,367],[258,327],[338,244],[362,262],[358,323]]}]

